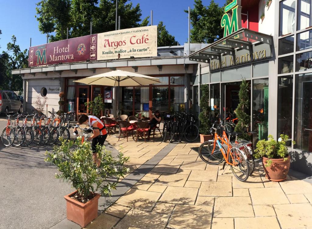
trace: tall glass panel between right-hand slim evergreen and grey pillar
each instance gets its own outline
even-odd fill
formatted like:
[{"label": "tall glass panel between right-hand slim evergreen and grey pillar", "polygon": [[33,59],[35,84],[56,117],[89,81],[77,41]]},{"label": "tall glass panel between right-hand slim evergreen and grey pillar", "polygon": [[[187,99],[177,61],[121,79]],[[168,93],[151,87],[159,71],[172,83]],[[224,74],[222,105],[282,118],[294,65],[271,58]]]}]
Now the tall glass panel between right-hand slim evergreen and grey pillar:
[{"label": "tall glass panel between right-hand slim evergreen and grey pillar", "polygon": [[269,79],[253,80],[253,131],[258,133],[258,140],[268,137],[269,118]]}]

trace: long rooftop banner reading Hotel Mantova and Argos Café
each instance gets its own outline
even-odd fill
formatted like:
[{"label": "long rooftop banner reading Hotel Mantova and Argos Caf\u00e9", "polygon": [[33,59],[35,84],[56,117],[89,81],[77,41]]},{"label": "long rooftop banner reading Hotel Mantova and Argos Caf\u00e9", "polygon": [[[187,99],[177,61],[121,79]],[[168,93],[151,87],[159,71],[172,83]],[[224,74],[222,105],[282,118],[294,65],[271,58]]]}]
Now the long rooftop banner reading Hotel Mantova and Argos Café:
[{"label": "long rooftop banner reading Hotel Mantova and Argos Caf\u00e9", "polygon": [[157,56],[157,26],[117,30],[29,48],[28,66]]}]

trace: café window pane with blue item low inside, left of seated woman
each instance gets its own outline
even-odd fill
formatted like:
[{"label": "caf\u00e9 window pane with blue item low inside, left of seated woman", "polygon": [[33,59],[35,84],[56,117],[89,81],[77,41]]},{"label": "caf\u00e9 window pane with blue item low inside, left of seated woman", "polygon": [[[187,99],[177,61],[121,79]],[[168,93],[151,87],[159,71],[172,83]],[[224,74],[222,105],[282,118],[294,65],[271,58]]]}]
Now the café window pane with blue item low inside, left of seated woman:
[{"label": "caf\u00e9 window pane with blue item low inside, left of seated woman", "polygon": [[136,87],[134,92],[134,112],[149,117],[149,87]]}]

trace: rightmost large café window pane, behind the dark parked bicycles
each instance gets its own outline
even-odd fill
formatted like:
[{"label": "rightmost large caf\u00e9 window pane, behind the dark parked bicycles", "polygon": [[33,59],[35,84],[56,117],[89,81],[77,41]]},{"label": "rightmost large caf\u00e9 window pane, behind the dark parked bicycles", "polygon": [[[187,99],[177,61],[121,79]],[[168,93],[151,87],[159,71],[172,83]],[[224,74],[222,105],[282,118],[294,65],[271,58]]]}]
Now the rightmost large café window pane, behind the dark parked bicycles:
[{"label": "rightmost large caf\u00e9 window pane, behind the dark parked bicycles", "polygon": [[170,112],[185,112],[184,87],[170,87]]}]

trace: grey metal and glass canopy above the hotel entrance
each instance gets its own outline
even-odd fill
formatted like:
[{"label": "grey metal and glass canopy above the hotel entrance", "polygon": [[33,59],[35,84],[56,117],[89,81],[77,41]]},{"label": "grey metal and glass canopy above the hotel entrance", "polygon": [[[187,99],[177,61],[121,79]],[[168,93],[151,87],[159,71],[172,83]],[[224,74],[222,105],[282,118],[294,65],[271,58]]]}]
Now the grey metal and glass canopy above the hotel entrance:
[{"label": "grey metal and glass canopy above the hotel entrance", "polygon": [[253,53],[255,45],[261,43],[269,46],[273,43],[273,37],[267,34],[241,28],[236,32],[208,45],[207,47],[189,55],[189,60],[210,63],[210,60],[222,60],[222,56],[237,55],[238,50]]}]

